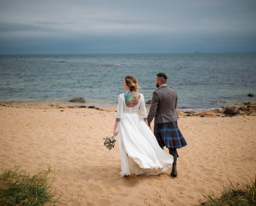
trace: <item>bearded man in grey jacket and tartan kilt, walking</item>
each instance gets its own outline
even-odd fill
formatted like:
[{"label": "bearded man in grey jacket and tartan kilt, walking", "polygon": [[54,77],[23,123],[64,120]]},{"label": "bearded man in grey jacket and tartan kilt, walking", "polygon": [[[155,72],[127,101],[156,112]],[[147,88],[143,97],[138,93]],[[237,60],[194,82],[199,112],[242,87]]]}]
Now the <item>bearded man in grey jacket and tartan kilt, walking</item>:
[{"label": "bearded man in grey jacket and tartan kilt, walking", "polygon": [[[177,176],[177,148],[187,145],[182,133],[178,129],[177,119],[179,118],[175,111],[177,107],[177,92],[175,89],[166,85],[167,76],[159,73],[156,76],[156,87],[159,88],[153,92],[152,105],[147,116],[148,125],[155,117],[154,134],[159,146],[167,147],[169,154],[173,156],[173,165],[171,176]],[[151,128],[151,127],[150,127]]]}]

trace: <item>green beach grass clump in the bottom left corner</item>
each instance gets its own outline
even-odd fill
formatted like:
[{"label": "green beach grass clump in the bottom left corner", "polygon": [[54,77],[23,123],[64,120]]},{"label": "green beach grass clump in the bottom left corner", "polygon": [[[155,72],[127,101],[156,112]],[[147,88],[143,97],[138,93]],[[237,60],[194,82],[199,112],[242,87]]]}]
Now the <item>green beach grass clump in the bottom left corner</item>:
[{"label": "green beach grass clump in the bottom left corner", "polygon": [[51,185],[54,180],[51,166],[34,175],[20,170],[20,166],[5,169],[0,176],[0,205],[53,205],[59,202]]}]

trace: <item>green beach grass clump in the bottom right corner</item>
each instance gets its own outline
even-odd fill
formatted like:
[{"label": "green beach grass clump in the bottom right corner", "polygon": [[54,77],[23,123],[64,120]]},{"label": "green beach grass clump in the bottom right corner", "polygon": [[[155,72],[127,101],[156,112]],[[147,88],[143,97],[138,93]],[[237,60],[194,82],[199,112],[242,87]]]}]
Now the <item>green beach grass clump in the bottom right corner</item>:
[{"label": "green beach grass clump in the bottom right corner", "polygon": [[223,184],[222,195],[216,197],[214,193],[203,194],[205,202],[200,205],[205,206],[251,206],[256,205],[256,176],[255,181],[250,179],[246,182],[234,185],[230,182],[230,187]]}]

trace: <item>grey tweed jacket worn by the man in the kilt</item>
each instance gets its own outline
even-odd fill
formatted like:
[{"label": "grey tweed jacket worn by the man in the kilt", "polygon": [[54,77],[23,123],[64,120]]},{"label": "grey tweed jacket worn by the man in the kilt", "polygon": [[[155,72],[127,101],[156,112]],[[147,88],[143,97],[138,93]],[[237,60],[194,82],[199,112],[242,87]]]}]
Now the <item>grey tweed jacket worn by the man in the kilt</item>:
[{"label": "grey tweed jacket worn by the man in the kilt", "polygon": [[164,85],[153,92],[152,105],[147,116],[148,125],[155,117],[154,123],[175,122],[179,118],[175,111],[178,96],[175,89]]}]

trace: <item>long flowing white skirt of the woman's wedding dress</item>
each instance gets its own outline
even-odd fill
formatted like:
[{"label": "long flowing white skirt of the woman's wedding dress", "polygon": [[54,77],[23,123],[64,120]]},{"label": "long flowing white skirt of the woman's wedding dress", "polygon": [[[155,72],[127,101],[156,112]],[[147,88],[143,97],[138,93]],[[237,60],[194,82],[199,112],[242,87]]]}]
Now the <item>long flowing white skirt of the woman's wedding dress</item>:
[{"label": "long flowing white skirt of the woman's wedding dress", "polygon": [[118,125],[118,141],[122,176],[159,175],[173,163],[173,157],[161,149],[138,113],[123,113]]}]

